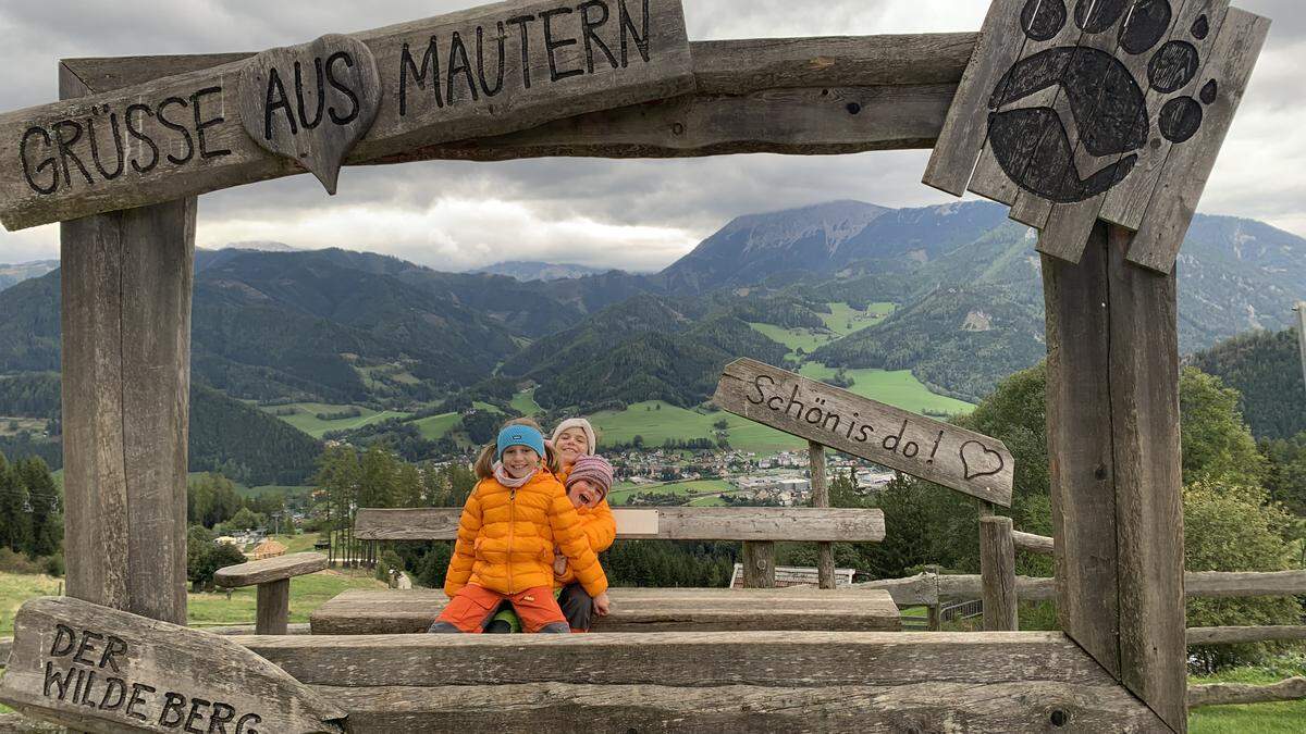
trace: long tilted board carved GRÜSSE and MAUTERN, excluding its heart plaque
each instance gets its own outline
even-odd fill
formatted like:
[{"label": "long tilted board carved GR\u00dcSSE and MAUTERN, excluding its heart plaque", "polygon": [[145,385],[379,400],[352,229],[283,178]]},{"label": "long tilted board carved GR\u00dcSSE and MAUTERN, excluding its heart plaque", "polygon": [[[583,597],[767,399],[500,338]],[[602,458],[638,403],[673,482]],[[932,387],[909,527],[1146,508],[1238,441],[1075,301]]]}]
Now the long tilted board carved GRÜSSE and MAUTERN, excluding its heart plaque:
[{"label": "long tilted board carved GR\u00dcSSE and MAUTERN, excluding its heart plaque", "polygon": [[[353,34],[371,48],[384,89],[376,120],[349,161],[692,91],[679,0],[602,0],[601,7],[610,10],[607,22],[592,25],[588,37],[582,18],[597,24],[598,5],[586,13],[555,0],[512,0]],[[628,10],[624,18],[620,8]],[[24,227],[303,171],[244,131],[236,90],[249,63],[0,115],[0,219]],[[91,141],[99,141],[104,166],[93,162]],[[81,163],[72,165],[68,153]]]}]

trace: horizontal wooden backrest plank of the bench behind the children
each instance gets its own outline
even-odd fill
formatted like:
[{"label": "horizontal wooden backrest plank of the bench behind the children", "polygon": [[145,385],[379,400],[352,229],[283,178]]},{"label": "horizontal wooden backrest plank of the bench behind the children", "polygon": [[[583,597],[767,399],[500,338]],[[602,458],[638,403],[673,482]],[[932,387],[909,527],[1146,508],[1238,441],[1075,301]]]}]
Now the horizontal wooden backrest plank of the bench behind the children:
[{"label": "horizontal wooden backrest plank of the bench behind the children", "polygon": [[[358,511],[360,541],[452,541],[460,508]],[[660,507],[613,511],[616,537],[666,541],[846,541],[884,539],[879,509],[814,507]]]}]

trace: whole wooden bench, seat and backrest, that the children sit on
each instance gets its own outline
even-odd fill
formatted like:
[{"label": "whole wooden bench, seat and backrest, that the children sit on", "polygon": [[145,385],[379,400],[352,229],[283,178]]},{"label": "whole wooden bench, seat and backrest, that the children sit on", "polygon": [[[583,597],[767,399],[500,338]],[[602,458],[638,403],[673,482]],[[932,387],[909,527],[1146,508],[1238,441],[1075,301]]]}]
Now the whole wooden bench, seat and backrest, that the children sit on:
[{"label": "whole wooden bench, seat and backrest, that the children sit on", "polygon": [[[451,541],[460,513],[457,508],[359,509],[354,534],[363,541]],[[613,515],[622,539],[760,546],[764,551],[755,550],[751,559],[769,562],[772,573],[776,541],[884,539],[879,509],[658,507],[620,508]],[[901,630],[897,606],[879,589],[613,589],[611,598],[613,614],[596,624],[596,632]],[[351,590],[319,607],[310,624],[316,635],[424,632],[444,602],[439,589]]]}]

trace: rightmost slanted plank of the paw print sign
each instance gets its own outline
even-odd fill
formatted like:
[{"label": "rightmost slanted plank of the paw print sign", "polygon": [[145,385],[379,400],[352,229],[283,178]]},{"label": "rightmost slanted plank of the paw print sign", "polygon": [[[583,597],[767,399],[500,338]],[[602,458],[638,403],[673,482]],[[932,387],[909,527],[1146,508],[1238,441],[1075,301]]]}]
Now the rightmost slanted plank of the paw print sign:
[{"label": "rightmost slanted plank of the paw print sign", "polygon": [[1192,223],[1268,33],[1268,18],[1229,9],[1203,74],[1216,82],[1215,99],[1205,106],[1198,132],[1166,155],[1147,212],[1139,221],[1128,252],[1130,263],[1160,273],[1174,269],[1175,255]]}]

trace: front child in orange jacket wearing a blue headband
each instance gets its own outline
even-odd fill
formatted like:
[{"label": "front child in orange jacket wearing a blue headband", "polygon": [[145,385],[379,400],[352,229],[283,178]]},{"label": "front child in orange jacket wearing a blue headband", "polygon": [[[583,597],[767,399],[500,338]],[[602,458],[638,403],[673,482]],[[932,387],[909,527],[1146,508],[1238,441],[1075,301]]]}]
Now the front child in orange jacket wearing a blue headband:
[{"label": "front child in orange jacket wearing a blue headband", "polygon": [[541,466],[545,457],[543,435],[529,421],[504,426],[482,452],[481,482],[462,508],[445,573],[449,603],[431,632],[481,632],[502,602],[512,605],[526,632],[568,632],[552,594],[555,546],[594,602],[607,606],[607,577],[565,490]]}]

